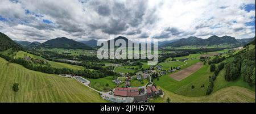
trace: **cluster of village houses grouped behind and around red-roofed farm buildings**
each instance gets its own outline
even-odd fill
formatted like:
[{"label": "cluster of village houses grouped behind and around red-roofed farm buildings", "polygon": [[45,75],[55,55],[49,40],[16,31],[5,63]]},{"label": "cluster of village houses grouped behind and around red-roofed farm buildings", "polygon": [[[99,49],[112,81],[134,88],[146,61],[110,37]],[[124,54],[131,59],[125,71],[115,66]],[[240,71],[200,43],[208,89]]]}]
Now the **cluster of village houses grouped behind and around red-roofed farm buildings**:
[{"label": "cluster of village houses grouped behind and around red-roofed farm buildings", "polygon": [[[185,60],[186,59],[181,61]],[[152,74],[158,74],[158,77],[160,77],[161,75],[164,75],[167,72],[171,73],[180,69],[180,67],[171,67],[168,70],[164,70],[162,69],[162,67],[162,65],[151,66],[147,70],[138,71],[135,75],[133,75],[133,77],[131,77],[129,73],[119,73],[122,75],[122,77],[126,77],[124,82],[125,86],[114,88],[114,90],[112,91],[112,95],[127,99],[133,99],[132,101],[135,103],[147,102],[148,99],[162,95],[163,91],[153,86],[151,82],[151,85],[147,85],[146,87],[130,87],[130,81],[132,78],[136,78],[138,80],[148,79],[151,77]],[[114,79],[113,82],[117,85],[123,83],[119,79]]]}]

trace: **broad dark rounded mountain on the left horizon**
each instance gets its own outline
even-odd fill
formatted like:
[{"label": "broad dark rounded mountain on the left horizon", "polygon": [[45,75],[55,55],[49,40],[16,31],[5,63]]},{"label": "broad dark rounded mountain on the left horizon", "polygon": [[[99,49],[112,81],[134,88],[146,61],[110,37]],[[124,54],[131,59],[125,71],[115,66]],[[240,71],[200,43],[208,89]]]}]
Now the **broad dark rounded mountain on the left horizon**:
[{"label": "broad dark rounded mountain on the left horizon", "polygon": [[38,45],[39,48],[64,48],[64,49],[92,49],[88,45],[80,43],[78,41],[68,39],[67,37],[57,37],[51,39],[43,44]]}]

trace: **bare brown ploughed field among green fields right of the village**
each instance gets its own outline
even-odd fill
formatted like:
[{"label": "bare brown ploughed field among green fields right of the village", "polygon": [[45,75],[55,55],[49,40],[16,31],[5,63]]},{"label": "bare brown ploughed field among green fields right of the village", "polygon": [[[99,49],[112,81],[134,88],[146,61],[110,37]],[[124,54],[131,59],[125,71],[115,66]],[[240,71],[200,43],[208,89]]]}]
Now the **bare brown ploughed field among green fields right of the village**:
[{"label": "bare brown ploughed field among green fields right of the village", "polygon": [[201,62],[197,62],[195,65],[189,66],[186,69],[180,70],[177,73],[171,74],[170,77],[176,81],[181,81],[184,78],[187,78],[189,75],[195,73],[203,66]]}]

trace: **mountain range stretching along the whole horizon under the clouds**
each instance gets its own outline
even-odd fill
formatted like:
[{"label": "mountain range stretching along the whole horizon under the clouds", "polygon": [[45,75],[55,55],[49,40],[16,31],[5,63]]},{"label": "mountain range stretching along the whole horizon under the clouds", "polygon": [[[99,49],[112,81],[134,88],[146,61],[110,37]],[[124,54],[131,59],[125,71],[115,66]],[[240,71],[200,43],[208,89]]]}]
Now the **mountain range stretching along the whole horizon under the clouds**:
[{"label": "mountain range stretching along the whole horizon under the clouds", "polygon": [[[13,41],[4,33],[0,32],[0,50],[8,49],[10,47],[15,49],[24,48],[64,48],[64,49],[93,49],[92,47],[96,47],[97,40],[89,40],[89,41],[75,41],[72,39],[68,39],[67,37],[57,37],[56,39],[48,40],[44,43],[32,42],[29,41]],[[131,41],[123,36],[118,36],[114,41],[118,39],[123,39],[126,41]],[[245,45],[255,40],[255,37],[249,39],[235,39],[231,36],[222,36],[218,37],[216,35],[210,36],[208,39],[201,39],[199,37],[191,36],[188,38],[183,38],[179,40],[168,40],[168,41],[160,41],[160,47],[181,47],[184,45],[220,45],[220,44],[237,44],[237,45]],[[109,43],[110,40],[108,40]],[[131,41],[133,42],[133,41]],[[137,42],[135,42],[137,43]],[[17,45],[19,44],[19,45]]]}]

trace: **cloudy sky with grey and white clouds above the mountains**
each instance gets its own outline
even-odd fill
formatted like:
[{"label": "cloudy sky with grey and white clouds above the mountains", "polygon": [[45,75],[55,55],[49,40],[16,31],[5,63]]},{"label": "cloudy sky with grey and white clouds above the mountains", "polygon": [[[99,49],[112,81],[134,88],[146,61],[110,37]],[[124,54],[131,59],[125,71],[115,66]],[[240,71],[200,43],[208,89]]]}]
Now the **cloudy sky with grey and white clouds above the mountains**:
[{"label": "cloudy sky with grey and white clouds above the mountains", "polygon": [[0,6],[0,32],[13,40],[255,36],[255,0],[0,0]]}]

